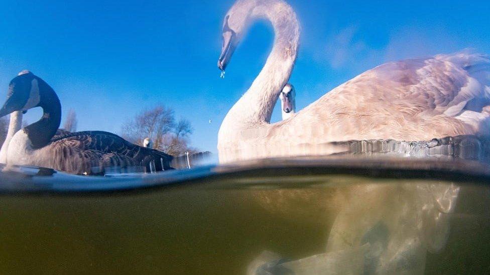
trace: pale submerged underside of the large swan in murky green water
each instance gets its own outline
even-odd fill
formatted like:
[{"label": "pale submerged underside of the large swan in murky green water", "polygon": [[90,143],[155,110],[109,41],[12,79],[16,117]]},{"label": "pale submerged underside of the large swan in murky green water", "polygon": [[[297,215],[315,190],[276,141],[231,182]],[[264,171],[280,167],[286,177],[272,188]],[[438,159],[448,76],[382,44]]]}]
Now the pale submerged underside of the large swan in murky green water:
[{"label": "pale submerged underside of the large swan in murky green water", "polygon": [[[248,273],[422,274],[427,251],[438,252],[446,244],[449,215],[459,190],[454,184],[412,182],[345,186],[325,199],[308,191],[280,190],[275,199],[259,195],[265,207],[290,217],[301,215],[296,203],[300,197],[317,204],[332,203],[328,207],[337,213],[324,253],[284,260],[264,251]],[[325,208],[317,206],[313,208]],[[303,210],[306,217],[312,214]]]}]

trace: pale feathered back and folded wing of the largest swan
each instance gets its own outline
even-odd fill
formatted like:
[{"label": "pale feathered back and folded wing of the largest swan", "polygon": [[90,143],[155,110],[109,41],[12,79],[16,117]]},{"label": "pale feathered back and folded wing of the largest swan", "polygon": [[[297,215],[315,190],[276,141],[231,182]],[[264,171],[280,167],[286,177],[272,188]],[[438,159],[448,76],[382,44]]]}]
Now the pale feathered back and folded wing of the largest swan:
[{"label": "pale feathered back and folded wing of the largest swan", "polygon": [[490,105],[488,86],[490,60],[481,55],[387,63],[328,92],[272,128],[271,136],[290,140],[298,136],[292,142],[321,144],[486,134],[490,133],[490,117],[484,111]]}]

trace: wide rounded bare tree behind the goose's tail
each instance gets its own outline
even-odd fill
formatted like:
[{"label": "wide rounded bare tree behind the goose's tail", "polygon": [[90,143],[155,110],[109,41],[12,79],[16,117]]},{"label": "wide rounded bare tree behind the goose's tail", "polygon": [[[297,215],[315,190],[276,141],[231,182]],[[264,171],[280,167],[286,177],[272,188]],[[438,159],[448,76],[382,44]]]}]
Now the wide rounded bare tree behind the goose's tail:
[{"label": "wide rounded bare tree behind the goose's tail", "polygon": [[153,148],[174,156],[186,151],[194,152],[189,147],[188,136],[192,134],[188,120],[181,119],[175,123],[174,111],[163,105],[145,110],[122,126],[122,137],[143,146],[145,138],[150,138]]}]

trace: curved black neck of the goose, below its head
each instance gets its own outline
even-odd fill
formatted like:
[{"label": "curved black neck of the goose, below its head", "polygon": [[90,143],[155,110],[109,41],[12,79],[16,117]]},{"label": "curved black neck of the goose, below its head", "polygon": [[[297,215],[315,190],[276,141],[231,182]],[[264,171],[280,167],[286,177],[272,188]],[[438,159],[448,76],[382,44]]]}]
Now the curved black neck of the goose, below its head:
[{"label": "curved black neck of the goose, below its head", "polygon": [[61,123],[61,103],[55,91],[43,80],[38,78],[40,102],[43,108],[43,117],[24,128],[33,149],[39,149],[50,143],[51,138]]}]

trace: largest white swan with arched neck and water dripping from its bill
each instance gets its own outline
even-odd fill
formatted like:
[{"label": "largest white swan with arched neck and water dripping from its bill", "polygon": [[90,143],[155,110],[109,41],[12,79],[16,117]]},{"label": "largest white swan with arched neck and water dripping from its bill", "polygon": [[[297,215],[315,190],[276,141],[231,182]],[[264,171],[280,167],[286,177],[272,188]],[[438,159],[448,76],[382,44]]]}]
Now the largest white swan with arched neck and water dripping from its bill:
[{"label": "largest white swan with arched neck and water dripping from its bill", "polygon": [[299,24],[293,9],[282,0],[238,0],[224,19],[218,68],[226,68],[248,26],[260,18],[274,28],[274,47],[221,124],[220,162],[324,154],[331,150],[322,145],[343,140],[490,134],[490,61],[468,52],[381,65],[291,119],[270,124],[277,91],[288,82],[296,60]]}]

